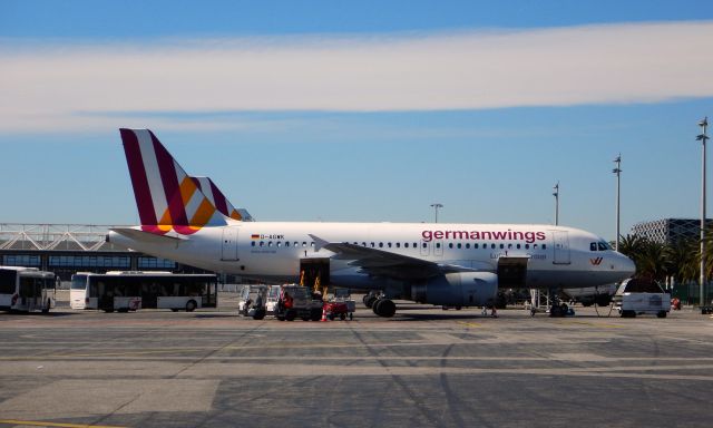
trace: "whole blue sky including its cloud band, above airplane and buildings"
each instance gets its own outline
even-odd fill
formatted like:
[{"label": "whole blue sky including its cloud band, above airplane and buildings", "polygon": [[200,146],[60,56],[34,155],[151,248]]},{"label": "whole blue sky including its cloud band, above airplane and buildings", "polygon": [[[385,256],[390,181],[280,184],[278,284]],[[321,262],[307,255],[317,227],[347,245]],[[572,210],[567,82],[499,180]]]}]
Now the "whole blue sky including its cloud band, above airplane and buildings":
[{"label": "whole blue sky including its cloud band, above airplane and buildings", "polygon": [[[138,221],[117,128],[263,221],[700,215],[706,1],[0,1],[0,222]],[[2,76],[4,75],[4,76]],[[713,187],[713,186],[712,186]]]}]

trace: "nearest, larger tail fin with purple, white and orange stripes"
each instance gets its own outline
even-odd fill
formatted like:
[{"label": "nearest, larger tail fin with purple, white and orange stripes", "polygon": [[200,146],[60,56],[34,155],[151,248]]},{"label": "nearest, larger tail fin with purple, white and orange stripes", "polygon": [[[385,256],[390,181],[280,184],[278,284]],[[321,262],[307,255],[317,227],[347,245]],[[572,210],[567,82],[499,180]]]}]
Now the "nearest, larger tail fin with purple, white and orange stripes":
[{"label": "nearest, larger tail fin with purple, white and orange stripes", "polygon": [[141,228],[189,235],[226,220],[148,129],[119,129]]}]

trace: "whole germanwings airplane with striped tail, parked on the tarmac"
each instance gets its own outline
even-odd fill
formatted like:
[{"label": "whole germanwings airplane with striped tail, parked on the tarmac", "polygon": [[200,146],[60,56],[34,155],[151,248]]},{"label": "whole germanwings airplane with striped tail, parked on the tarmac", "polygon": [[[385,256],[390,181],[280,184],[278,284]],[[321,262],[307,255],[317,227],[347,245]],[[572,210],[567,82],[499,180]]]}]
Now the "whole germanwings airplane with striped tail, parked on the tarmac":
[{"label": "whole germanwings airplane with striped tail, parked on the tarmac", "polygon": [[[121,128],[120,136],[141,225],[113,228],[108,242],[267,283],[319,279],[368,291],[380,317],[395,313],[395,299],[487,307],[498,288],[599,286],[635,272],[602,237],[557,225],[237,221],[154,133]],[[564,315],[566,305],[558,308],[550,315]]]}]

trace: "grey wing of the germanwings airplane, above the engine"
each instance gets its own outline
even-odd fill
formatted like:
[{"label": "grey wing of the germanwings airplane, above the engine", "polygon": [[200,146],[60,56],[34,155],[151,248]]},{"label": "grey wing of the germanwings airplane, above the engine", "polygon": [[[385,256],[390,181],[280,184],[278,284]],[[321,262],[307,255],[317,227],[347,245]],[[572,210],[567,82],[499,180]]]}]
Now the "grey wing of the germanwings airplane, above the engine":
[{"label": "grey wing of the germanwings airplane, above the engine", "polygon": [[445,273],[478,272],[472,268],[455,264],[433,263],[408,255],[394,254],[388,251],[369,249],[348,242],[328,242],[310,235],[316,249],[325,249],[334,253],[332,259],[351,260],[349,263],[359,266],[364,273],[375,276],[389,276],[398,280],[428,279]]}]

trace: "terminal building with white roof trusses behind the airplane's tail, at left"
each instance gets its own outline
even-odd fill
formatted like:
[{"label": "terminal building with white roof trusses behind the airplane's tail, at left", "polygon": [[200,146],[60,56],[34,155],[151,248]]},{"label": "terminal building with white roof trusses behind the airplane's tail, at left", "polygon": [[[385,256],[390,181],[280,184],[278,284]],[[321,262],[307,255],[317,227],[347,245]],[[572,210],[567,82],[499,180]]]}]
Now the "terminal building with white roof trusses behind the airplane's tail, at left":
[{"label": "terminal building with white roof trusses behind the airplane's tail, at left", "polygon": [[[76,272],[206,273],[106,242],[111,225],[0,223],[0,265],[38,268],[69,281]],[[126,226],[124,226],[126,227]]]}]

